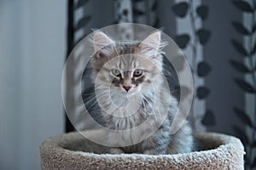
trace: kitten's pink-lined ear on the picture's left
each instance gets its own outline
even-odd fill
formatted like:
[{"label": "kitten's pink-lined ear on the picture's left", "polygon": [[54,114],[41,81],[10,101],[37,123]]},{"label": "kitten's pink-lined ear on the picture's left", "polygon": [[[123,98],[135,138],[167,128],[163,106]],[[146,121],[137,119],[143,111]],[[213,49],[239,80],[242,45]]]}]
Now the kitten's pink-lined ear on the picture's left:
[{"label": "kitten's pink-lined ear on the picture's left", "polygon": [[104,34],[102,31],[96,31],[92,38],[93,46],[95,52],[102,50],[102,48],[107,47],[114,43],[114,41]]}]

